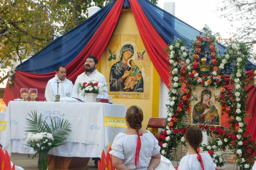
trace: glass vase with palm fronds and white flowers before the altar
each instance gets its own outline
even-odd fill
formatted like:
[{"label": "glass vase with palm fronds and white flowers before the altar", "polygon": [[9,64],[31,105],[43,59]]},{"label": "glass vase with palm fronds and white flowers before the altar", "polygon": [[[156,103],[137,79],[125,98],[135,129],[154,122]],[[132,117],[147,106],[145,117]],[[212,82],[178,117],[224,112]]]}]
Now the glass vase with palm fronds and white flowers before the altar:
[{"label": "glass vase with palm fronds and white flowers before the altar", "polygon": [[26,119],[27,127],[26,132],[26,145],[32,147],[35,151],[35,155],[38,154],[38,170],[47,170],[48,168],[48,152],[53,147],[61,146],[64,140],[67,139],[67,135],[71,132],[70,123],[67,120],[52,120],[47,124],[45,120],[42,120],[42,115],[37,115],[34,111],[32,115],[29,114],[32,119]]}]

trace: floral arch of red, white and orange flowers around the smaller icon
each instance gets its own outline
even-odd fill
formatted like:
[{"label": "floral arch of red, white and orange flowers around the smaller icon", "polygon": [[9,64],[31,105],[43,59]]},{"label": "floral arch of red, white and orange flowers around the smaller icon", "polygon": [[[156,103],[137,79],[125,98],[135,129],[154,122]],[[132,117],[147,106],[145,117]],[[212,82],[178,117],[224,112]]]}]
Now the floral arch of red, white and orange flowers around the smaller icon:
[{"label": "floral arch of red, white and orange flowers around the smaller icon", "polygon": [[[161,154],[172,159],[172,152],[181,142],[185,144],[183,134],[190,126],[197,126],[205,131],[212,140],[201,149],[208,152],[217,166],[224,165],[222,151],[229,148],[238,167],[249,170],[256,159],[256,142],[246,131],[244,122],[246,113],[247,95],[244,87],[249,80],[246,77],[245,66],[250,57],[250,48],[241,42],[231,42],[226,52],[221,55],[216,48],[216,35],[204,28],[202,35],[195,37],[192,48],[187,51],[186,43],[176,40],[169,45],[166,53],[171,63],[169,78],[170,103],[167,105],[167,125],[158,136]],[[210,61],[206,62],[207,55]],[[202,58],[202,56],[205,56]],[[233,66],[229,82],[223,78],[227,66]],[[229,88],[224,84],[229,83]],[[187,111],[189,112],[192,100],[191,92],[195,87],[215,87],[220,94],[215,96],[221,106],[221,114],[227,113],[229,127],[212,126],[207,123],[183,123]]]}]

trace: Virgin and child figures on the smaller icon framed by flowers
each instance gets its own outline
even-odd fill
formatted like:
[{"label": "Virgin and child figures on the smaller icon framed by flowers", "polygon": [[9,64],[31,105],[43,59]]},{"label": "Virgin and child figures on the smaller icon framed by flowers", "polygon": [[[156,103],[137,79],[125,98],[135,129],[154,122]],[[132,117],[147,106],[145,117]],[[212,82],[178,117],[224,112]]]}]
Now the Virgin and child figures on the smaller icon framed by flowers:
[{"label": "Virgin and child figures on the smaller icon framed by flowers", "polygon": [[195,104],[192,111],[194,124],[219,125],[218,110],[210,100],[211,97],[210,90],[205,89],[201,92],[201,101]]}]

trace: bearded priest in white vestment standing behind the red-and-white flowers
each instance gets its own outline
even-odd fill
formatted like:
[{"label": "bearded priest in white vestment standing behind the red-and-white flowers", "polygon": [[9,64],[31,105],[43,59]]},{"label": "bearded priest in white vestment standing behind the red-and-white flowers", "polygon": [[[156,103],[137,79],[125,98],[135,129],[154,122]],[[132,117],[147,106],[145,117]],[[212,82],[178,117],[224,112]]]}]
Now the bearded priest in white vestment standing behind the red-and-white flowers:
[{"label": "bearded priest in white vestment standing behind the red-and-white flowers", "polygon": [[86,96],[82,94],[82,91],[79,89],[79,83],[83,84],[88,79],[95,79],[98,82],[101,82],[104,85],[105,92],[103,94],[98,94],[97,99],[108,99],[108,88],[107,81],[105,77],[97,71],[98,59],[94,56],[89,56],[85,63],[84,69],[85,72],[80,74],[76,78],[76,82],[71,94],[71,97],[81,99],[82,101],[86,101]]}]

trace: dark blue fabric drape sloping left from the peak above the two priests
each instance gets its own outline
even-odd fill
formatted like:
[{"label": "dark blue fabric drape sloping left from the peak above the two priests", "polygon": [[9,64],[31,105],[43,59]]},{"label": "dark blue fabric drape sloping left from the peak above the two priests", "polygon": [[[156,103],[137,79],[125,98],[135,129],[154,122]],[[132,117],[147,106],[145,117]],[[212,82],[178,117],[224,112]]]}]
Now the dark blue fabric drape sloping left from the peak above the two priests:
[{"label": "dark blue fabric drape sloping left from the peak above the two priests", "polygon": [[17,66],[18,71],[45,74],[67,65],[83,50],[116,1],[111,1],[79,26],[56,38],[40,52]]}]

